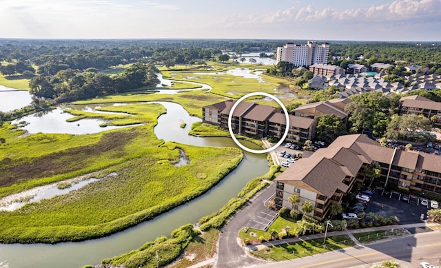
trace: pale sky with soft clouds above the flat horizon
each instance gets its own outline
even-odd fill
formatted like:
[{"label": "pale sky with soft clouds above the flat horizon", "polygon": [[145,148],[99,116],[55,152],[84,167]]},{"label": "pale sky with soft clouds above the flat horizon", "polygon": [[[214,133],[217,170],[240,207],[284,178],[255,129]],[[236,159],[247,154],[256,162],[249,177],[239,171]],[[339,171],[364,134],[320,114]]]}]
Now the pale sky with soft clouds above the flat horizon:
[{"label": "pale sky with soft clouds above the flat horizon", "polygon": [[440,41],[441,0],[0,0],[0,38]]}]

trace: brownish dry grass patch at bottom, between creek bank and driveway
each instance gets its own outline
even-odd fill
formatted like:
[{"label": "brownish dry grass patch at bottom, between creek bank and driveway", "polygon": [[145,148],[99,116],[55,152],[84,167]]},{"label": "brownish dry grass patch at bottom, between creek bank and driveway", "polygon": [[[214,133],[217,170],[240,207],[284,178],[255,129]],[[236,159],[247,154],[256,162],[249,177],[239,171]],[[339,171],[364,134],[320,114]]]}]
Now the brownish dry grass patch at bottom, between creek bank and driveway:
[{"label": "brownish dry grass patch at bottom, between creek bank and driveway", "polygon": [[185,248],[183,258],[167,267],[185,268],[212,258],[216,251],[216,243],[219,233],[220,231],[217,229],[210,229],[209,231],[196,236]]}]

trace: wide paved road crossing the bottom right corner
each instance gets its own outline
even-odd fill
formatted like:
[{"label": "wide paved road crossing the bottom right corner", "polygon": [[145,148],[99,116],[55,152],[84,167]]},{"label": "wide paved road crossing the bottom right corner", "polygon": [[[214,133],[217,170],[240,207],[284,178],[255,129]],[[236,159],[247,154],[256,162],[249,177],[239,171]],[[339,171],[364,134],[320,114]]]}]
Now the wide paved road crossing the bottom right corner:
[{"label": "wide paved road crossing the bottom right corner", "polygon": [[431,231],[363,247],[350,247],[285,262],[271,262],[257,267],[371,267],[384,260],[396,260],[400,263],[400,267],[410,268],[419,267],[422,261],[430,262],[432,265],[441,265],[440,252],[441,232]]}]

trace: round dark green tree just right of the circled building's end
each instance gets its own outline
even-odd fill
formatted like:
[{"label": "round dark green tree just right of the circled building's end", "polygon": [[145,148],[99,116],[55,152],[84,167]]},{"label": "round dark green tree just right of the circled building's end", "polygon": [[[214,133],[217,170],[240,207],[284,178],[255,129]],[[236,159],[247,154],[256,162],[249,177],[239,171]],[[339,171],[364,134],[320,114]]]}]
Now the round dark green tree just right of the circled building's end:
[{"label": "round dark green tree just right of the circled building's end", "polygon": [[347,134],[345,123],[335,114],[324,114],[316,120],[317,138],[320,141],[332,143],[338,136]]}]

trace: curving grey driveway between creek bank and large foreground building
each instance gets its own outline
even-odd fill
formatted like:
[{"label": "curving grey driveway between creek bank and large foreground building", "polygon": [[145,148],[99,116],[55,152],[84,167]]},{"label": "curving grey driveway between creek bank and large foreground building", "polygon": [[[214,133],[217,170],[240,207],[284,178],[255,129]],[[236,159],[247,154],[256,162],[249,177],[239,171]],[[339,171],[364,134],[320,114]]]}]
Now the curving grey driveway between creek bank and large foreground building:
[{"label": "curving grey driveway between creek bank and large foreground building", "polygon": [[218,256],[214,267],[244,267],[267,263],[245,254],[245,249],[238,244],[238,231],[264,209],[263,202],[276,192],[276,183],[271,183],[258,196],[249,200],[247,205],[221,229],[218,241]]}]

